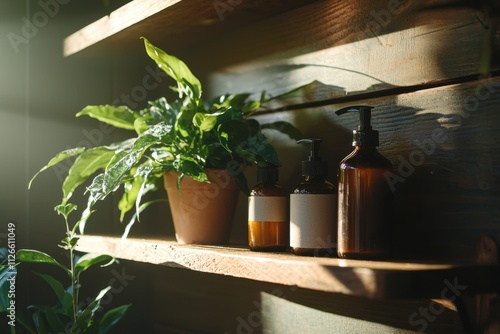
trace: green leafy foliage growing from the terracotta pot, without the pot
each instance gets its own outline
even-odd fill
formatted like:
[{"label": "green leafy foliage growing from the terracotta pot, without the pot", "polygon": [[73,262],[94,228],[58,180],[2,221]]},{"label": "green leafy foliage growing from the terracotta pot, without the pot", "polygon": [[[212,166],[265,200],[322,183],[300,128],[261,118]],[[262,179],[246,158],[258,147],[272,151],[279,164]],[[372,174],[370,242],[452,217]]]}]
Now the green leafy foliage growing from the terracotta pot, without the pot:
[{"label": "green leafy foliage growing from the terracotta pot, without the pot", "polygon": [[[300,132],[289,123],[260,124],[252,117],[270,100],[264,92],[258,100],[249,99],[251,94],[248,93],[203,100],[201,83],[188,66],[147,39],[143,40],[149,57],[175,81],[176,86],[171,89],[178,93],[178,99],[170,102],[162,97],[150,101],[142,110],[112,105],[85,107],[76,114],[77,117],[89,116],[132,131],[133,135],[108,146],[62,151],[33,177],[76,157],[62,185],[61,204],[67,204],[76,189],[91,180],[86,187],[87,207],[79,222],[80,233],[84,232],[96,202],[117,189],[123,189],[118,204],[120,220],[123,221],[133,208],[134,221],[139,220],[140,208],[153,203],[142,203],[142,199],[163,188],[164,172],[176,172],[180,184],[186,176],[208,182],[206,169],[210,168],[227,169],[234,164],[279,166],[278,153],[262,130],[281,131],[294,140],[301,138]],[[233,177],[242,192],[248,194],[243,172]]]}]

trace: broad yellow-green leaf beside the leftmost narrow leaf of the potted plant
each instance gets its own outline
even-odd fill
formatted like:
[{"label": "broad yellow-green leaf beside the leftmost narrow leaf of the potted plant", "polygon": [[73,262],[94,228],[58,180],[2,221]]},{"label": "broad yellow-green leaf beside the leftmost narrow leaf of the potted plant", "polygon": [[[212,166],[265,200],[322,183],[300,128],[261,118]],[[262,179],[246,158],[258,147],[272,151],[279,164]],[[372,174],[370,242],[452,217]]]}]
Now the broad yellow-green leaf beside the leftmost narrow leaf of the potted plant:
[{"label": "broad yellow-green leaf beside the leftmost narrow leaf of the potted plant", "polygon": [[97,170],[104,169],[115,156],[115,149],[99,146],[82,152],[69,169],[68,176],[64,180],[63,203],[71,197],[73,191],[84,183]]}]

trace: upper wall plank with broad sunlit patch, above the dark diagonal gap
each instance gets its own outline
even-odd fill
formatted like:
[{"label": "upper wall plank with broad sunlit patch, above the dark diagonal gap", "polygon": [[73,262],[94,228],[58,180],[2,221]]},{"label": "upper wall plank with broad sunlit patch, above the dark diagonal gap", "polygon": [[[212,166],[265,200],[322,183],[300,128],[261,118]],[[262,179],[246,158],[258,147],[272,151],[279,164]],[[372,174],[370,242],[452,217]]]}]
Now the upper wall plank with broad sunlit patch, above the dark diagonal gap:
[{"label": "upper wall plank with broad sunlit patch, above the dark diagonal gap", "polygon": [[277,95],[313,80],[336,87],[309,101],[356,100],[477,75],[487,34],[484,13],[410,1],[392,14],[388,3],[314,2],[221,36],[218,45],[230,46],[223,51],[209,48],[209,40],[201,46],[203,61],[196,55],[190,61],[208,72],[210,95],[255,87]]}]

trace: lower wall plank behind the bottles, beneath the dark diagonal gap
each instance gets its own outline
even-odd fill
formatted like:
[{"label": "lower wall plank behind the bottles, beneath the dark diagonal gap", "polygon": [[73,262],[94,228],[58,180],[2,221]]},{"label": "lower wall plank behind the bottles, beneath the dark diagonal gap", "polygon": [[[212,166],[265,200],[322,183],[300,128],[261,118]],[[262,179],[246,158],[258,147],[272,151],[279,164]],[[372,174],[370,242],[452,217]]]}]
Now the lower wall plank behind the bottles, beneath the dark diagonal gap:
[{"label": "lower wall plank behind the bottles, beneath the dark diagonal gap", "polygon": [[[389,179],[395,195],[395,256],[473,261],[481,236],[500,240],[500,77],[351,103],[376,106],[379,149],[395,169]],[[351,103],[259,120],[288,120],[306,137],[322,138],[322,156],[335,183],[339,162],[352,150],[358,119],[334,111]],[[280,180],[293,189],[306,151],[275,133],[268,135],[286,166]]]}]

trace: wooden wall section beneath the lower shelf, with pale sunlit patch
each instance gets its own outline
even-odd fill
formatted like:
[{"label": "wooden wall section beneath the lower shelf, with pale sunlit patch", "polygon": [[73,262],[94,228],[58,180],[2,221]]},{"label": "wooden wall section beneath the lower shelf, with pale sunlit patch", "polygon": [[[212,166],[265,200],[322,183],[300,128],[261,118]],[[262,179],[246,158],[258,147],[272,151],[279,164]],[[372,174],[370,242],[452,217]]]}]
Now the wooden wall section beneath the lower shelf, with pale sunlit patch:
[{"label": "wooden wall section beneath the lower shelf, with pale sunlit patch", "polygon": [[134,278],[125,291],[134,294],[114,296],[114,302],[132,302],[117,333],[463,333],[452,304],[435,304],[442,309],[439,317],[425,321],[418,315],[431,303],[425,299],[376,301],[129,261],[121,265],[119,272]]}]

